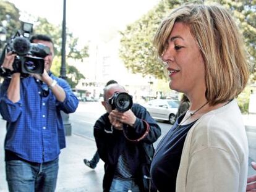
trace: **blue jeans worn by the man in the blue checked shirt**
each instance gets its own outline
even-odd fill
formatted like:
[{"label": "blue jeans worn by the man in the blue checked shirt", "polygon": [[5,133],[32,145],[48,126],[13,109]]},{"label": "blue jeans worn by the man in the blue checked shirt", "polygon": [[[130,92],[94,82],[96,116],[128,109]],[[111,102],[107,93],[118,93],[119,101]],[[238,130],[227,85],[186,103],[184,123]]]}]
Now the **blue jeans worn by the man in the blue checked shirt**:
[{"label": "blue jeans worn by the man in the blue checked shirt", "polygon": [[6,180],[9,191],[51,192],[56,188],[59,159],[42,164],[25,161],[6,161]]}]

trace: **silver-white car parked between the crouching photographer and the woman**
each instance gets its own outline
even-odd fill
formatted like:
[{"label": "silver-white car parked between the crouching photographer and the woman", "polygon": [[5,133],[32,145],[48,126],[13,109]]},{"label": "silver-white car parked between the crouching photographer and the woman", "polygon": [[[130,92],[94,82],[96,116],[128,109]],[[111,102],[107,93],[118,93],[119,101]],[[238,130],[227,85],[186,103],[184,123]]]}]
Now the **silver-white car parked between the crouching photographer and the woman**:
[{"label": "silver-white car parked between the crouching photographer and the woman", "polygon": [[168,120],[173,125],[179,101],[173,99],[152,99],[144,105],[153,119]]}]

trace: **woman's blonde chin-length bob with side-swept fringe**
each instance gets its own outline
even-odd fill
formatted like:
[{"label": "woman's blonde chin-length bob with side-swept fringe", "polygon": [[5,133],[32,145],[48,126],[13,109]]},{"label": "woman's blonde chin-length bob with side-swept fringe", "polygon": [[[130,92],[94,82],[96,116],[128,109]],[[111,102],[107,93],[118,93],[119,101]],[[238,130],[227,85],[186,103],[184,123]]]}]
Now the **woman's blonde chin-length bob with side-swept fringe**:
[{"label": "woman's blonde chin-length bob with side-swept fringe", "polygon": [[158,57],[175,22],[190,27],[205,62],[205,96],[211,105],[235,98],[249,78],[244,40],[229,12],[219,5],[187,4],[173,9],[154,38]]}]

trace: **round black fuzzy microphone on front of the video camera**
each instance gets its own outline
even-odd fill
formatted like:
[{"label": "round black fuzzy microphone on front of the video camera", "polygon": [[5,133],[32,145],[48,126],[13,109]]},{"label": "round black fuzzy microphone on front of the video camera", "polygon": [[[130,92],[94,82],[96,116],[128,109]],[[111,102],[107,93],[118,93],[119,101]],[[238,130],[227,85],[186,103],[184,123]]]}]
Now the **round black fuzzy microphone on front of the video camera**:
[{"label": "round black fuzzy microphone on front of the video camera", "polygon": [[25,56],[30,51],[30,41],[27,38],[17,37],[12,43],[12,48],[20,56]]}]

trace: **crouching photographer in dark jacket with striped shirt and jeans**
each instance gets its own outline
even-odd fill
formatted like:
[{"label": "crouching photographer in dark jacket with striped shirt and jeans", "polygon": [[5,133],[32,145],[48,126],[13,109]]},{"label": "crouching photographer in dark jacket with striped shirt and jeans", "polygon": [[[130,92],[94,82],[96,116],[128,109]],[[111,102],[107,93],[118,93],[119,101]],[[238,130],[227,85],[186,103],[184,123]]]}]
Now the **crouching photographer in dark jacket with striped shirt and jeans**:
[{"label": "crouching photographer in dark jacket with striped shirt and jeans", "polygon": [[123,113],[113,110],[108,99],[116,92],[126,90],[117,83],[105,87],[102,104],[106,114],[94,125],[98,153],[105,162],[103,191],[146,191],[142,164],[147,155],[153,156],[153,143],[161,135],[161,130],[139,104],[133,104],[129,111]]}]

